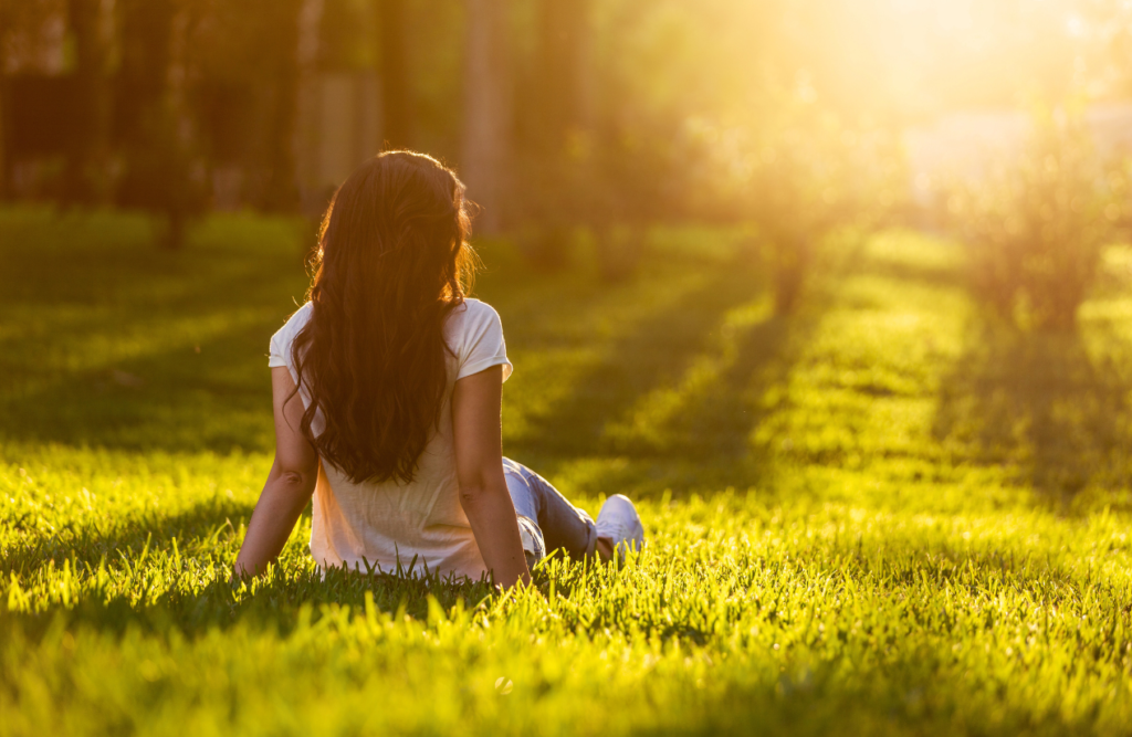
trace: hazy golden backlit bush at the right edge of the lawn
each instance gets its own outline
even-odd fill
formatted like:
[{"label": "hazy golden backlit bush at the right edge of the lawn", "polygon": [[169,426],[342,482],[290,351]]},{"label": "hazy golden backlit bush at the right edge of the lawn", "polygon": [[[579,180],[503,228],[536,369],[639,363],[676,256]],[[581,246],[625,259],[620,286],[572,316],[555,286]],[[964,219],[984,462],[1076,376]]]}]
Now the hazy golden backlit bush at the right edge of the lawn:
[{"label": "hazy golden backlit bush at the right edge of the lawn", "polygon": [[958,183],[947,209],[969,246],[971,284],[998,317],[1070,331],[1130,196],[1080,117],[1046,112],[1015,163]]}]

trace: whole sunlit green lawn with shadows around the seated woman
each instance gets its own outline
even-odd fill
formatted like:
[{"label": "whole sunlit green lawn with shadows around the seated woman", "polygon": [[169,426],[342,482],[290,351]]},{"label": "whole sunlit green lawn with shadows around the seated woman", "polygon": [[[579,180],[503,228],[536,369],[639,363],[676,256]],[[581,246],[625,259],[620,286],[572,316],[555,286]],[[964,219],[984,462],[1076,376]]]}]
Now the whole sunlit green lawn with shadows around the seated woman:
[{"label": "whole sunlit green lawn with shadows around the seated woman", "polygon": [[987,324],[959,251],[846,243],[777,318],[726,233],[610,286],[488,243],[505,449],[650,547],[537,591],[228,572],[301,228],[0,212],[0,735],[1130,734],[1132,284]]}]

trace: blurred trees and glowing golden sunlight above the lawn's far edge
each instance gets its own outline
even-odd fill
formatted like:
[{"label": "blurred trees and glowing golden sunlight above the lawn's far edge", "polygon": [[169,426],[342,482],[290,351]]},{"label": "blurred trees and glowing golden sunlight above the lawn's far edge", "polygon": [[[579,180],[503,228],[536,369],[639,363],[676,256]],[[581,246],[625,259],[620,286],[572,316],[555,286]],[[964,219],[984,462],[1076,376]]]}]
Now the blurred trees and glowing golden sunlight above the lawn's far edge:
[{"label": "blurred trees and glowing golden sunlight above the lawn's far edge", "polygon": [[1130,93],[1123,0],[0,0],[0,198],[148,209],[175,248],[207,211],[317,218],[406,147],[480,233],[554,267],[582,228],[617,277],[650,223],[942,226],[1043,117],[1118,161]]}]

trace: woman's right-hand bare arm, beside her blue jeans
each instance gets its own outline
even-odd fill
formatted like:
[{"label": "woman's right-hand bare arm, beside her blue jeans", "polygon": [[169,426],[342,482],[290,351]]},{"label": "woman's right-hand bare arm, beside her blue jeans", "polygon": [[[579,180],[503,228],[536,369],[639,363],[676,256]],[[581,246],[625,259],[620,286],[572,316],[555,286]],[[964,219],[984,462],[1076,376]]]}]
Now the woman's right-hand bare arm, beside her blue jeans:
[{"label": "woman's right-hand bare arm, beside her blue jeans", "polygon": [[472,524],[483,563],[496,583],[531,582],[518,535],[518,517],[503,475],[503,367],[465,376],[452,395],[460,504]]}]

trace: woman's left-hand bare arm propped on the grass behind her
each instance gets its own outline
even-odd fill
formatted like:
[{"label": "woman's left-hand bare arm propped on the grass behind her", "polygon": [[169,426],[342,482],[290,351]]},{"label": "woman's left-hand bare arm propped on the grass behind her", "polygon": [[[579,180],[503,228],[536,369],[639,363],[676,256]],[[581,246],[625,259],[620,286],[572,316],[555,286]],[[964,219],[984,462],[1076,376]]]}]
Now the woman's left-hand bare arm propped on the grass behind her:
[{"label": "woman's left-hand bare arm propped on the grass behind her", "polygon": [[275,462],[235,558],[237,575],[263,573],[278,556],[318,481],[318,454],[299,430],[302,400],[294,394],[294,379],[285,367],[272,369],[272,396]]}]

